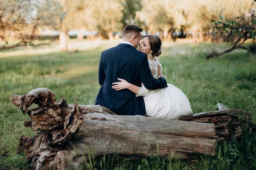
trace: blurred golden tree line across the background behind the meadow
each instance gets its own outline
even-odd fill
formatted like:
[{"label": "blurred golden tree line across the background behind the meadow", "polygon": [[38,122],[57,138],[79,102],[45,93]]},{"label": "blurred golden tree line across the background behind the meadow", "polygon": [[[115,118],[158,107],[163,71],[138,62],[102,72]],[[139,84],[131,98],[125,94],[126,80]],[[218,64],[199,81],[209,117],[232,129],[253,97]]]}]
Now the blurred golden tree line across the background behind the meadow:
[{"label": "blurred golden tree line across the background behind the meadow", "polygon": [[[33,40],[44,28],[58,30],[60,48],[67,50],[72,29],[79,30],[78,40],[85,30],[98,33],[88,39],[112,40],[128,24],[163,40],[228,41],[229,32],[217,35],[216,28],[211,30],[211,19],[221,15],[223,20],[241,17],[250,22],[254,6],[252,0],[0,0],[0,50],[40,45]],[[14,36],[20,41],[8,45]]]}]

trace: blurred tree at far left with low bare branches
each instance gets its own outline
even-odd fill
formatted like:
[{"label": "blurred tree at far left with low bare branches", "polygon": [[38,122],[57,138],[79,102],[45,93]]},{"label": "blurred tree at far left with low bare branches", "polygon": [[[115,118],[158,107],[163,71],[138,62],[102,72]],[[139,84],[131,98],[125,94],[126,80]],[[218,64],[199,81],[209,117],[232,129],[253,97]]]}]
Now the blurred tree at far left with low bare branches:
[{"label": "blurred tree at far left with low bare branches", "polygon": [[[49,43],[35,44],[33,40],[38,35],[38,28],[58,25],[58,16],[63,16],[60,4],[53,0],[0,0],[0,39],[5,42],[2,49],[17,46],[38,46]],[[12,36],[18,40],[9,45]]]}]

